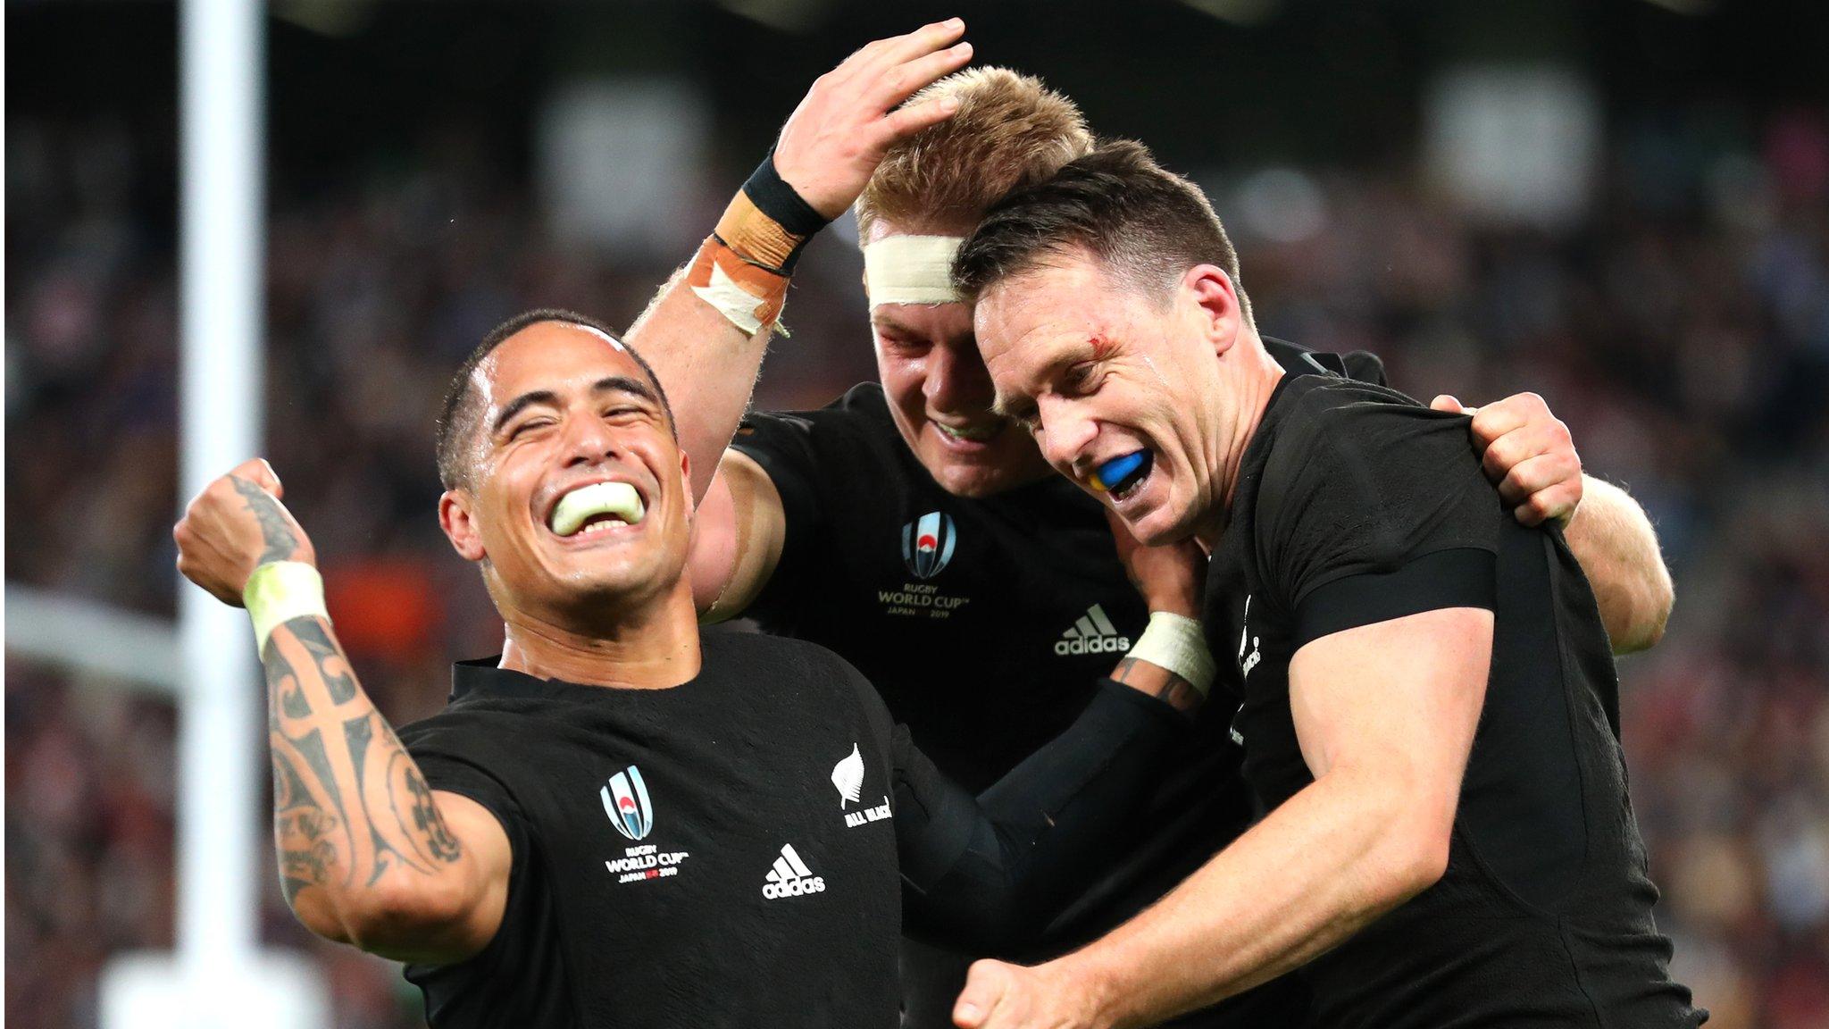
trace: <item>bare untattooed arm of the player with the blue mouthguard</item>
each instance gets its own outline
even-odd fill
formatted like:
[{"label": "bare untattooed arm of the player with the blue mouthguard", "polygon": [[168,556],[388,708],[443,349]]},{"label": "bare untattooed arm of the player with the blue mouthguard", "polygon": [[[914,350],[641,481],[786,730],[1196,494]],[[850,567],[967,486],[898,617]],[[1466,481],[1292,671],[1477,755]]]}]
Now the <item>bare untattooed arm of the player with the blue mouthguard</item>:
[{"label": "bare untattooed arm of the player with the blue mouthguard", "polygon": [[[960,1025],[1152,1025],[1295,969],[1428,888],[1491,644],[1491,612],[1449,608],[1302,646],[1289,703],[1315,782],[1085,950],[975,967]],[[1048,1005],[1074,1014],[1050,1020]]]}]

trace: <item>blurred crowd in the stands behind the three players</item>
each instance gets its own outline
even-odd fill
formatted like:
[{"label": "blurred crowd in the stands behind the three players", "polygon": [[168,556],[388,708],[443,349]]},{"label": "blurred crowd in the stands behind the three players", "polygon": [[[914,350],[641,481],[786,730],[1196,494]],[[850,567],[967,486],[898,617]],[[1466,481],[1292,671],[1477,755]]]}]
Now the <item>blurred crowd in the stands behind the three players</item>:
[{"label": "blurred crowd in the stands behind the three players", "polygon": [[[1233,218],[1249,192],[1213,190],[1267,333],[1374,350],[1425,401],[1540,392],[1589,471],[1652,513],[1677,612],[1620,676],[1677,974],[1723,1029],[1824,1027],[1829,125],[1710,117],[1622,117],[1573,229],[1481,225],[1412,172],[1304,172],[1319,211],[1302,233],[1253,231],[1277,211]],[[11,117],[5,139],[7,577],[154,615],[174,608],[181,502],[168,134]],[[706,189],[706,227],[733,185]],[[534,196],[461,134],[335,187],[273,183],[267,456],[364,683],[401,721],[501,632],[433,516],[450,370],[518,309],[627,324],[671,269],[547,242]],[[872,374],[840,233],[801,265],[763,406]],[[108,956],[170,945],[174,727],[166,701],[9,650],[11,1025],[93,1025]],[[263,932],[324,961],[338,1025],[421,1024],[391,965],[291,919],[271,868]]]}]

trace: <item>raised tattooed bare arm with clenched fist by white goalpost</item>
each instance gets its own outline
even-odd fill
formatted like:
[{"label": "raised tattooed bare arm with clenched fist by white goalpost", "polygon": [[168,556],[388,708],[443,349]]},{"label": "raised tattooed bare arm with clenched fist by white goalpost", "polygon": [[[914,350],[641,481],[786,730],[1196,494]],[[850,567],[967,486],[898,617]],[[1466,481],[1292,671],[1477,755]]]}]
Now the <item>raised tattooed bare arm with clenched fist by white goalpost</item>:
[{"label": "raised tattooed bare arm with clenched fist by white goalpost", "polygon": [[[282,491],[260,460],[212,482],[172,529],[177,569],[241,606],[258,569],[313,566],[311,540],[280,504]],[[260,655],[285,901],[318,936],[386,958],[441,963],[479,952],[507,901],[507,833],[481,804],[428,789],[329,621],[304,613],[313,604],[296,579],[280,590],[256,606],[267,612],[260,617],[285,619]]]}]

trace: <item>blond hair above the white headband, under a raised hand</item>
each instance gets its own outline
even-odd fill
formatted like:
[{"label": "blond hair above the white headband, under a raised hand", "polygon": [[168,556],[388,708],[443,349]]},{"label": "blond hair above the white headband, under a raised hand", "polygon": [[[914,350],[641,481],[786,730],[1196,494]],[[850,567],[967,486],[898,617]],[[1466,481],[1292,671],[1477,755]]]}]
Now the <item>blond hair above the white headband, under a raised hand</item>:
[{"label": "blond hair above the white headband, under a raised hand", "polygon": [[1092,152],[1079,106],[1033,75],[968,68],[907,103],[940,97],[955,97],[958,112],[889,148],[858,198],[860,236],[880,220],[927,229],[971,225],[1010,190]]}]

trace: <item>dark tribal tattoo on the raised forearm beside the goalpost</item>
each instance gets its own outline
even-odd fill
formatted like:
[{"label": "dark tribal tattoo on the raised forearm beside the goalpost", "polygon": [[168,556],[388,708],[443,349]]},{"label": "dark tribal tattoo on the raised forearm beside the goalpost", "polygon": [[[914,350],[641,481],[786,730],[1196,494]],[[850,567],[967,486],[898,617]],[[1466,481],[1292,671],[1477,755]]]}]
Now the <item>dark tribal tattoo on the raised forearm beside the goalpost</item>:
[{"label": "dark tribal tattoo on the raised forearm beside the goalpost", "polygon": [[305,908],[348,910],[388,877],[457,872],[463,846],[419,765],[357,683],[329,623],[305,615],[278,626],[262,665],[273,839],[285,899],[300,917]]}]

